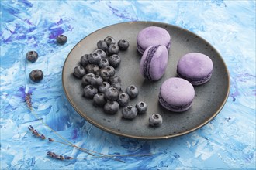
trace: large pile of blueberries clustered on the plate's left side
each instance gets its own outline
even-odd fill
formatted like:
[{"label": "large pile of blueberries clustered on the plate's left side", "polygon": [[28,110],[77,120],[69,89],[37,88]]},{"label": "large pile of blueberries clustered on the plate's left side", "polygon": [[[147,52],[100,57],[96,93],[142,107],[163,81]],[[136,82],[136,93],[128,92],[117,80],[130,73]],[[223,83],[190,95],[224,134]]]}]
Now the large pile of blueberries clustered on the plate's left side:
[{"label": "large pile of blueberries clustered on the plate's left side", "polygon": [[147,112],[147,104],[140,101],[130,106],[130,99],[138,96],[135,85],[122,90],[121,78],[116,76],[116,68],[121,63],[119,50],[126,50],[129,42],[120,39],[117,43],[112,36],[97,42],[97,48],[90,54],[81,56],[80,65],[74,67],[74,76],[81,79],[84,97],[93,100],[96,107],[103,107],[106,114],[116,114],[123,107],[123,118],[133,119],[137,114]]}]

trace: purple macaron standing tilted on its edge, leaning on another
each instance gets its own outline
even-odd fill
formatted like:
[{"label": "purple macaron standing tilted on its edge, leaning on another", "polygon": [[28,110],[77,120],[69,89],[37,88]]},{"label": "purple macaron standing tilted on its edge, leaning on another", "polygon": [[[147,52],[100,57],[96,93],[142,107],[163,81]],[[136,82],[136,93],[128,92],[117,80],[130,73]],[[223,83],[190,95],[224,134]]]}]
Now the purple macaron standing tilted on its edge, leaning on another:
[{"label": "purple macaron standing tilted on its edge, leaning on another", "polygon": [[140,59],[140,73],[147,80],[159,80],[168,65],[168,50],[165,46],[149,46]]}]

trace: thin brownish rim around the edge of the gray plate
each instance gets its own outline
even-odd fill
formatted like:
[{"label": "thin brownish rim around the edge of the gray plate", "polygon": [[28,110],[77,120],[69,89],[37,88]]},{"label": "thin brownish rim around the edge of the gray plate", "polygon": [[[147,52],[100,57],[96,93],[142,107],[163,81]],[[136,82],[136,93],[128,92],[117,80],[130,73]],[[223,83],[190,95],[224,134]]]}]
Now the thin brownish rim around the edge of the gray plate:
[{"label": "thin brownish rim around the edge of the gray plate", "polygon": [[[191,32],[189,31],[188,29],[183,29],[182,27],[180,26],[175,26],[175,25],[171,25],[169,23],[165,23],[165,22],[156,22],[156,21],[133,21],[133,22],[137,22],[137,23],[151,23],[152,25],[153,24],[157,24],[157,25],[164,25],[164,26],[171,26],[171,27],[175,27],[176,29],[181,29],[182,31],[185,31],[185,32],[189,32],[190,34],[192,34],[193,36],[197,36],[199,39],[202,39],[203,41],[207,42],[210,46],[211,43],[209,43],[208,41],[206,41],[206,39],[202,38],[201,36],[195,34],[194,32]],[[62,73],[61,73],[61,81],[62,81],[62,87],[63,87],[63,90],[64,90],[64,93],[65,93],[65,96],[67,97],[67,100],[69,101],[69,103],[71,104],[71,106],[74,108],[74,110],[83,118],[85,118],[86,121],[88,121],[90,124],[94,125],[95,127],[97,128],[100,128],[102,129],[103,131],[106,131],[106,132],[109,132],[111,134],[116,134],[116,135],[119,135],[121,137],[126,137],[126,138],[135,138],[135,139],[146,139],[146,140],[157,140],[157,139],[168,139],[168,138],[175,138],[175,137],[178,137],[178,136],[182,136],[182,135],[185,135],[185,134],[189,134],[191,133],[192,131],[196,131],[198,130],[199,128],[202,128],[203,126],[205,126],[206,124],[209,123],[209,121],[212,121],[214,117],[216,117],[217,114],[220,113],[220,111],[223,109],[224,105],[226,104],[227,102],[227,99],[229,97],[229,94],[230,94],[230,73],[227,69],[227,65],[223,59],[223,57],[220,55],[220,53],[218,52],[218,50],[216,50],[216,48],[214,46],[213,47],[213,50],[216,51],[216,53],[220,56],[220,59],[224,65],[224,70],[226,70],[227,72],[227,93],[226,93],[226,96],[222,102],[222,104],[220,105],[220,107],[216,110],[216,112],[211,116],[209,117],[206,121],[204,121],[202,124],[199,124],[198,126],[196,126],[195,128],[192,128],[188,131],[183,131],[182,133],[178,133],[178,134],[171,134],[171,135],[165,135],[165,136],[144,136],[144,137],[140,137],[140,136],[137,136],[137,135],[131,135],[131,134],[123,134],[123,133],[120,133],[118,131],[112,131],[111,129],[109,128],[106,128],[105,126],[102,126],[101,124],[98,124],[97,122],[95,121],[92,121],[89,117],[86,116],[86,114],[81,114],[81,110],[79,110],[77,107],[75,107],[75,104],[74,102],[71,100],[71,97],[69,97],[68,93],[67,93],[67,89],[64,87],[64,68],[65,68],[65,64],[67,63],[67,58],[70,56],[71,52],[74,50],[74,48],[76,46],[78,46],[78,44],[83,41],[84,39],[86,39],[88,36],[94,34],[95,32],[99,32],[100,30],[102,29],[106,29],[110,26],[116,26],[116,25],[120,25],[120,24],[127,24],[127,23],[133,23],[133,22],[118,22],[116,24],[112,24],[112,25],[109,25],[109,26],[105,26],[105,27],[102,27],[101,29],[97,29],[95,30],[94,32],[91,32],[90,34],[88,34],[87,36],[85,36],[84,38],[82,38],[79,42],[77,42],[73,48],[71,49],[71,51],[67,54],[67,57],[64,61],[64,64],[63,64],[63,67],[62,67]]]}]

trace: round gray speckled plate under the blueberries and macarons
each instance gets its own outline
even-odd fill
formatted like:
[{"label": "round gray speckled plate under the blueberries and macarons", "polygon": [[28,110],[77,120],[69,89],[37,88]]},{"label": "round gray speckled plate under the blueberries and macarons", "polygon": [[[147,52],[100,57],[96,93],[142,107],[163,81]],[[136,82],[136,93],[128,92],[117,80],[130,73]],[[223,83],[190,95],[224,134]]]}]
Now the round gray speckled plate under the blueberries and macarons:
[{"label": "round gray speckled plate under the blueberries and macarons", "polygon": [[[157,82],[144,80],[139,71],[141,56],[137,52],[136,37],[138,32],[147,26],[160,26],[168,30],[171,35],[168,68]],[[102,108],[94,107],[92,100],[82,97],[81,80],[76,79],[72,74],[81,56],[92,53],[96,49],[96,43],[106,36],[112,36],[116,40],[126,39],[130,42],[129,49],[119,53],[122,62],[116,70],[116,75],[122,78],[123,89],[130,84],[139,88],[140,94],[130,101],[131,105],[135,106],[140,100],[148,104],[147,114],[138,115],[133,121],[123,119],[121,110],[115,115],[108,115]],[[213,60],[213,76],[208,83],[195,87],[192,107],[181,114],[176,114],[158,104],[159,88],[164,80],[176,76],[178,59],[185,53],[192,52],[204,53]],[[81,39],[68,54],[63,67],[62,81],[67,99],[81,117],[104,131],[141,139],[172,138],[201,128],[220,112],[230,91],[227,66],[216,49],[188,30],[161,22],[124,22],[92,32]],[[163,117],[163,124],[159,128],[151,128],[148,124],[148,118],[154,113]]]}]

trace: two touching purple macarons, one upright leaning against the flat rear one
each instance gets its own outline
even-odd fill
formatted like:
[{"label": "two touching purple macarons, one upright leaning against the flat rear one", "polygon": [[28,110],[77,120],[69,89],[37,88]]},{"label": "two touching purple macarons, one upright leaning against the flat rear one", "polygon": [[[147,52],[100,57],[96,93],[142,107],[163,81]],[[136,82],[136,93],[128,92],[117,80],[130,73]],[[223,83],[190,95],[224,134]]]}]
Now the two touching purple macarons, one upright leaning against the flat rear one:
[{"label": "two touching purple macarons, one upright leaning against the flat rear one", "polygon": [[137,35],[137,50],[143,54],[140,60],[140,73],[147,80],[159,80],[168,64],[168,50],[171,36],[166,29],[149,26]]}]

